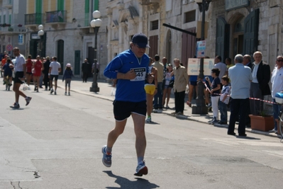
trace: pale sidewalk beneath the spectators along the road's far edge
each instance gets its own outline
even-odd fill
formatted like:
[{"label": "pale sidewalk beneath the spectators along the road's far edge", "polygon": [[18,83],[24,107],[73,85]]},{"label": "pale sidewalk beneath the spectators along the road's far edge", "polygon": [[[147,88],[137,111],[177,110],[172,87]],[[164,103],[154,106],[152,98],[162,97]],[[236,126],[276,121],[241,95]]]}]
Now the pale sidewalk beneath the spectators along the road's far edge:
[{"label": "pale sidewalk beneath the spectators along the road's far edge", "polygon": [[[82,93],[84,95],[87,96],[94,96],[96,98],[101,98],[107,101],[113,101],[114,100],[114,96],[111,96],[111,90],[112,90],[112,86],[110,82],[107,82],[105,79],[98,79],[97,84],[99,86],[99,92],[98,93],[94,93],[94,92],[90,92],[89,88],[91,87],[92,84],[92,78],[88,79],[87,83],[82,83],[82,79],[80,78],[73,78],[72,82],[71,82],[71,91],[75,92],[75,93]],[[58,88],[65,88],[65,82],[62,82],[62,76],[59,77],[58,79],[58,83],[57,83]],[[185,102],[187,102],[187,94],[185,97]],[[192,102],[194,103],[194,101]],[[171,93],[170,96],[170,101],[168,103],[170,109],[163,109],[163,110],[157,110],[157,113],[163,113],[165,115],[170,115],[170,116],[174,116],[171,113],[174,112],[174,110],[172,109],[174,107],[174,93]],[[154,114],[154,113],[153,113]],[[220,115],[219,115],[220,116]],[[190,108],[187,104],[185,104],[184,106],[184,115],[177,115],[174,116],[176,118],[179,119],[184,119],[184,120],[193,120],[196,122],[203,122],[208,124],[207,122],[209,120],[212,119],[213,115],[212,112],[209,112],[209,114],[207,115],[193,115],[192,114],[192,108]],[[230,112],[228,111],[228,118],[230,118]],[[208,124],[209,125],[209,124]],[[214,124],[215,127],[226,127],[228,128],[228,125],[220,125],[220,124]],[[235,125],[235,129],[238,129],[238,125]],[[279,135],[274,134],[274,133],[270,133],[270,132],[262,132],[262,131],[258,131],[258,130],[251,130],[250,128],[246,128],[245,129],[246,132],[253,132],[256,134],[264,134],[270,137],[279,137]]]}]

